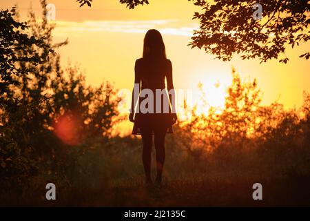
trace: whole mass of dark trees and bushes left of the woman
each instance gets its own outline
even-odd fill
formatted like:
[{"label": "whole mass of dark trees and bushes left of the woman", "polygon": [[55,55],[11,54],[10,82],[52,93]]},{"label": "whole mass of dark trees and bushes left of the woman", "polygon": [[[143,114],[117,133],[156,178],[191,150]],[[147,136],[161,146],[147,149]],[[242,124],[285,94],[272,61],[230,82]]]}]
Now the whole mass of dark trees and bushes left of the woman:
[{"label": "whole mass of dark trees and bushes left of the woman", "polygon": [[[7,52],[0,77],[0,186],[6,186],[1,191],[25,183],[30,186],[38,176],[43,183],[46,179],[70,182],[66,166],[90,150],[85,144],[106,142],[112,135],[112,122],[120,120],[116,90],[109,82],[98,88],[86,86],[78,68],[61,67],[55,51],[67,41],[52,42],[54,26],[45,19],[45,1],[41,4],[42,21],[30,12],[27,26],[16,21],[12,10],[11,14],[1,12],[8,15],[3,22],[8,28],[0,34],[7,39],[1,41]],[[72,151],[72,146],[79,151]]]}]

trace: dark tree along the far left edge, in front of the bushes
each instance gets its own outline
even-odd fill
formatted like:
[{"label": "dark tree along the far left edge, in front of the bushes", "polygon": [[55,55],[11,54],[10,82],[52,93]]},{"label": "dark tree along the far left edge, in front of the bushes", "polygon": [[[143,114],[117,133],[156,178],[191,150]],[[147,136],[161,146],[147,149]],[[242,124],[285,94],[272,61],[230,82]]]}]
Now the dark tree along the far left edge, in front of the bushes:
[{"label": "dark tree along the far left edge, in front of the bushes", "polygon": [[[24,113],[26,100],[23,102],[17,97],[19,92],[15,90],[23,86],[21,79],[25,77],[25,68],[19,64],[39,66],[54,52],[45,43],[45,36],[29,35],[28,23],[17,21],[16,15],[16,7],[0,11],[0,186],[3,189],[25,185],[23,178],[36,171],[34,160],[29,157],[31,147],[21,145],[32,131],[26,130],[25,134],[25,130],[19,128],[28,115]],[[43,52],[43,56],[33,48]],[[19,122],[15,122],[16,119]]]}]

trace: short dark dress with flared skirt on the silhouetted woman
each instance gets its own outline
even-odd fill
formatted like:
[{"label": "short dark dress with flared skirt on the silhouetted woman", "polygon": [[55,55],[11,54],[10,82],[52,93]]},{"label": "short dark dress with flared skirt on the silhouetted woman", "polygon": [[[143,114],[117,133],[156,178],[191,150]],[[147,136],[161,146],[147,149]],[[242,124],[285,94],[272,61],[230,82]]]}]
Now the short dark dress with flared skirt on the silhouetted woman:
[{"label": "short dark dress with flared skirt on the silhouetted woman", "polygon": [[[167,79],[168,88],[173,88],[171,61],[141,58],[136,60],[134,70],[136,82],[138,81],[141,85],[141,93],[135,109],[132,134],[141,135],[143,127],[151,129],[153,134],[156,128],[165,130],[166,133],[173,133],[172,108],[167,90],[165,90],[165,79]],[[153,96],[149,97],[149,93],[153,93]],[[148,102],[145,99],[148,99]]]}]

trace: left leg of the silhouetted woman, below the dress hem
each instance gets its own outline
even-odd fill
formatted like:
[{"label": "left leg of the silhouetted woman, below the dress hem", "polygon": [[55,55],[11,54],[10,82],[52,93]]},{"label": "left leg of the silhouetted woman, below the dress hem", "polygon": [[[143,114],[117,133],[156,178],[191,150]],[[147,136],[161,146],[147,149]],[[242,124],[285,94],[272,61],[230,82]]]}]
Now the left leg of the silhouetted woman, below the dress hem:
[{"label": "left leg of the silhouetted woman, below the dress hem", "polygon": [[151,183],[151,153],[152,153],[152,130],[149,128],[141,128],[142,136],[142,161],[145,171],[145,181]]}]

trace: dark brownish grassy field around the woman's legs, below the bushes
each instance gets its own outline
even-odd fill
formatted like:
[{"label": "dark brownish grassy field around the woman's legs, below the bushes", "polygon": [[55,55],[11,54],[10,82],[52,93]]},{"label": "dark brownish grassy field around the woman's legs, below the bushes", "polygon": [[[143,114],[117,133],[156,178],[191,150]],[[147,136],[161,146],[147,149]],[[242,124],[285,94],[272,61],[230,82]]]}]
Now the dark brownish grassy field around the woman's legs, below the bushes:
[{"label": "dark brownish grassy field around the woman's legs, below the bushes", "polygon": [[[118,148],[113,148],[116,143]],[[163,185],[145,186],[141,140],[125,137],[112,144],[79,157],[76,169],[67,173],[72,176],[68,182],[39,175],[20,193],[8,192],[1,206],[310,206],[309,176],[276,174],[272,166],[258,166],[257,160],[249,162],[252,158],[241,153],[224,164],[167,146]],[[56,200],[45,199],[47,182],[56,184]],[[262,184],[263,200],[252,198],[257,182]]]}]

